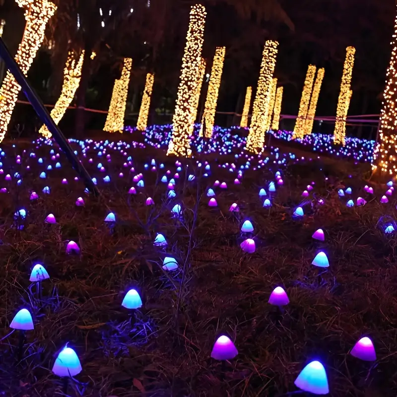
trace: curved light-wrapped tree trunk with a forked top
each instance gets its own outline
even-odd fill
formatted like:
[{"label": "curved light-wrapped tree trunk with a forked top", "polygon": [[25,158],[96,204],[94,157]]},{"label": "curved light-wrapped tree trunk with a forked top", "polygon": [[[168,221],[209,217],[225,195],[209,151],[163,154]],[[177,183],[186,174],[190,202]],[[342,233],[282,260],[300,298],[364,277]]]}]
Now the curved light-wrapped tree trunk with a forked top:
[{"label": "curved light-wrapped tree trunk with a forked top", "polygon": [[[51,111],[51,117],[55,124],[61,121],[64,117],[66,109],[74,98],[77,87],[80,83],[81,68],[83,66],[84,51],[81,53],[78,62],[76,63],[73,53],[69,52],[67,57],[66,66],[64,69],[64,84],[62,85],[61,96],[58,98],[54,109]],[[46,138],[51,138],[52,134],[48,131],[46,125],[43,125],[39,131]]]}]

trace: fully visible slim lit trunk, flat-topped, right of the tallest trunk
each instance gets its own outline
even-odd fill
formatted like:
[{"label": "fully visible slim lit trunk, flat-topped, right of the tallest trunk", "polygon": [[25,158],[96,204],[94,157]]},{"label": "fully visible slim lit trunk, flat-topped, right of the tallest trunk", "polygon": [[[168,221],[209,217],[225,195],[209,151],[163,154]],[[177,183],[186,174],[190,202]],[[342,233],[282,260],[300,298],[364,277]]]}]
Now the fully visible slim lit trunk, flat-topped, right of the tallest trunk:
[{"label": "fully visible slim lit trunk, flat-topped, right of the tallest trunk", "polygon": [[218,100],[220,80],[222,77],[223,62],[225,60],[225,47],[217,47],[209,77],[207,98],[205,100],[204,113],[202,115],[201,129],[199,135],[203,135],[203,125],[205,124],[204,136],[210,138],[214,128],[216,102]]}]

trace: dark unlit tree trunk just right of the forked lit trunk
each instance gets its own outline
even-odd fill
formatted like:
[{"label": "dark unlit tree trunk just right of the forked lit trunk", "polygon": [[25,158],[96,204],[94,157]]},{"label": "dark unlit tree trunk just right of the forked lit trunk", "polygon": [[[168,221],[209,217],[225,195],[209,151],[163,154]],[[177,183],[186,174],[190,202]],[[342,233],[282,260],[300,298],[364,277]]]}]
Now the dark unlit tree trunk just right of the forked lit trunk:
[{"label": "dark unlit tree trunk just right of the forked lit trunk", "polygon": [[88,88],[88,82],[91,74],[91,53],[92,46],[86,43],[84,46],[84,60],[81,68],[80,84],[76,93],[76,116],[75,116],[75,135],[76,137],[84,136],[85,127],[85,94]]}]

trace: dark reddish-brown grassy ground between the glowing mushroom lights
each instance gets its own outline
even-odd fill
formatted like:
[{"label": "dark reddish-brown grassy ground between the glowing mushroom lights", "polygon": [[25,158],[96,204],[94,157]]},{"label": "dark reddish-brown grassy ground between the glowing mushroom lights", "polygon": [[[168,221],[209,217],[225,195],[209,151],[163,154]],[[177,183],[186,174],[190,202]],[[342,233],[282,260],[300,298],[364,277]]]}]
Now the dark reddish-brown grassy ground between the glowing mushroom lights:
[{"label": "dark reddish-brown grassy ground between the glowing mushroom lights", "polygon": [[[37,158],[48,158],[51,147],[2,148],[7,153],[2,168],[20,172],[22,184],[3,182],[0,176],[0,188],[9,190],[0,194],[0,395],[62,395],[62,382],[51,368],[67,342],[83,366],[79,384],[69,387],[71,396],[287,396],[297,390],[296,376],[313,359],[326,367],[331,396],[397,395],[397,240],[396,234],[386,236],[378,222],[396,216],[396,199],[379,203],[384,186],[372,184],[374,196],[363,191],[365,167],[291,164],[281,170],[285,184],[266,209],[258,192],[267,190],[277,168],[247,170],[235,186],[236,174],[218,168],[233,158],[212,157],[208,178],[200,178],[201,169],[190,160],[187,174],[195,173],[196,181],[187,182],[182,171],[177,197],[169,203],[164,199],[167,186],[159,179],[167,169],[172,176],[176,166],[163,152],[129,150],[134,173],[123,168],[126,156],[120,152],[111,151],[110,163],[94,157],[89,164],[87,155],[84,164],[102,192],[95,199],[83,193],[81,182],[72,181],[74,173],[63,155],[62,169],[49,172],[47,180],[38,178],[44,166]],[[14,156],[23,149],[22,165],[15,165]],[[36,159],[28,157],[31,150]],[[152,157],[164,162],[164,170],[144,170]],[[99,160],[106,173],[95,167]],[[124,178],[118,177],[120,171]],[[135,186],[132,176],[139,172],[145,188],[128,195]],[[105,175],[111,176],[110,184],[102,182]],[[69,184],[62,185],[62,178]],[[219,207],[210,209],[205,191],[215,180],[227,182],[228,189],[215,189]],[[316,185],[304,203],[306,215],[295,220],[293,210],[312,181]],[[46,185],[50,195],[41,193]],[[368,203],[347,208],[347,199],[337,196],[343,186],[352,188],[354,200],[361,196]],[[29,201],[31,190],[38,200]],[[79,196],[85,207],[74,205]],[[149,196],[154,207],[144,205]],[[317,205],[316,198],[325,204]],[[233,202],[240,207],[235,215],[228,211]],[[170,216],[175,203],[183,206],[181,221]],[[20,207],[27,210],[23,230],[12,226]],[[114,228],[103,221],[110,210],[117,216]],[[56,225],[44,222],[49,213],[56,216]],[[255,228],[257,251],[251,255],[240,249],[245,219]],[[324,243],[311,238],[319,227],[326,234]],[[153,247],[156,232],[167,238],[166,250]],[[66,255],[69,240],[79,244],[80,256]],[[319,280],[311,262],[320,250],[327,253],[330,267]],[[179,271],[161,269],[166,253],[177,259]],[[42,301],[29,282],[37,261],[51,276],[43,283]],[[267,303],[278,285],[290,299],[281,319]],[[121,307],[132,287],[143,300],[134,317]],[[18,335],[5,336],[21,307],[31,310],[35,330],[27,332],[24,359],[18,362]],[[224,373],[210,358],[221,333],[239,350]],[[374,341],[375,364],[348,355],[364,335]]]}]

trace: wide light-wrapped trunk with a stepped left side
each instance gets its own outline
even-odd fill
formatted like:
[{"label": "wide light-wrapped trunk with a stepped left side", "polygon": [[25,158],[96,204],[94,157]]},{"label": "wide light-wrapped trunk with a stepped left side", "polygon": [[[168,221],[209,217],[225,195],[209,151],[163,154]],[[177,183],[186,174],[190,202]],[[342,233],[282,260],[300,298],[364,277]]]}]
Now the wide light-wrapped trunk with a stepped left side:
[{"label": "wide light-wrapped trunk with a stepped left side", "polygon": [[130,84],[130,75],[132,68],[132,59],[124,59],[124,67],[120,79],[115,81],[113,87],[112,99],[110,101],[109,113],[106,118],[104,131],[123,132],[124,115],[126,113],[128,86]]}]

